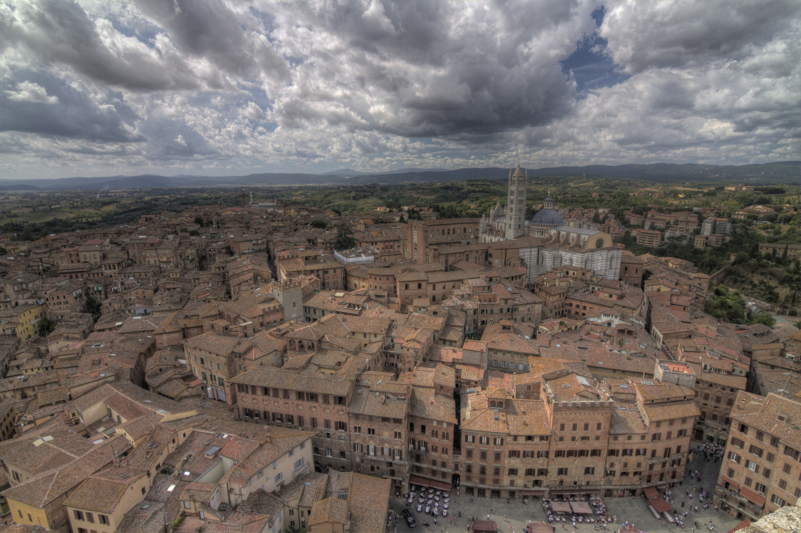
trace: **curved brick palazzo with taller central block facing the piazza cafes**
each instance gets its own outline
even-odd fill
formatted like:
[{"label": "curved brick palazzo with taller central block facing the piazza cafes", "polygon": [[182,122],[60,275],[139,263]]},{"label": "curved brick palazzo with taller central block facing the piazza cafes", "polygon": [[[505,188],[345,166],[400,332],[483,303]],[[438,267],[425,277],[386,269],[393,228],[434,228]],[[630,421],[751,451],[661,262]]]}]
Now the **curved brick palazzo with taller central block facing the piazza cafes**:
[{"label": "curved brick palazzo with taller central block facing the piazza cafes", "polygon": [[599,383],[550,359],[537,359],[520,378],[514,394],[487,388],[462,398],[468,495],[631,497],[682,478],[698,416],[690,387],[655,379]]}]

